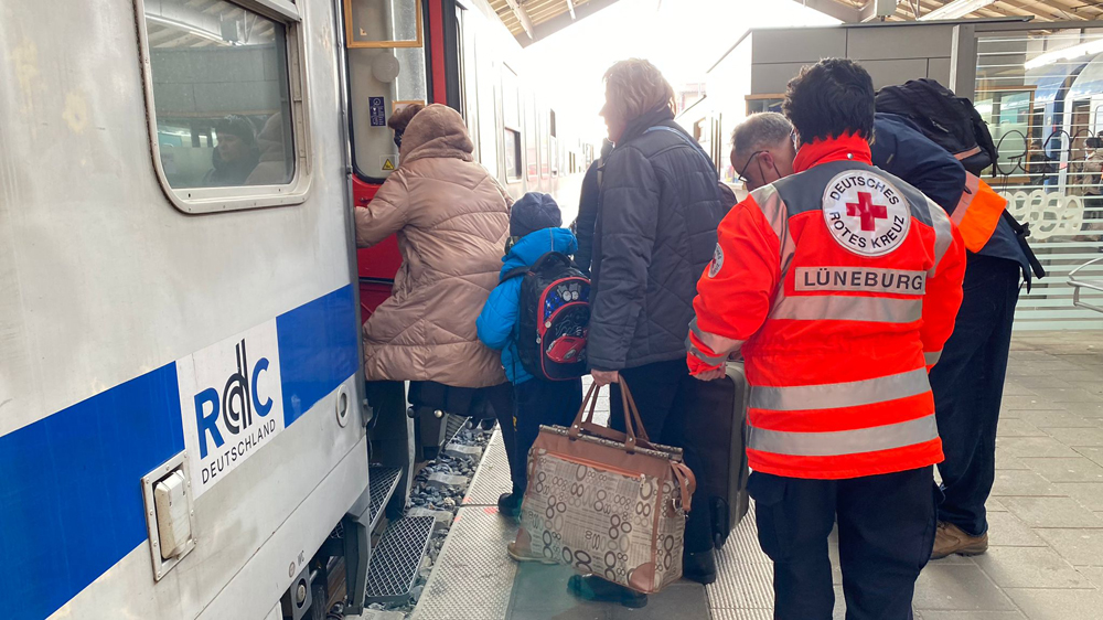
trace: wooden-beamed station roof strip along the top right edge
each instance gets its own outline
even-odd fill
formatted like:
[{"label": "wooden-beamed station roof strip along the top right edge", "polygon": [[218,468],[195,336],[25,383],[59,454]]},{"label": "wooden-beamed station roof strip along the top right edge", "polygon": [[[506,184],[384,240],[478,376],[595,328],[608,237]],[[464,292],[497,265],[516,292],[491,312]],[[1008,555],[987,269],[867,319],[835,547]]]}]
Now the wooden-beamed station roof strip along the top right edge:
[{"label": "wooden-beamed station roof strip along the top right edge", "polygon": [[[794,0],[845,23],[972,19],[1082,21],[1103,19],[1094,0]],[[895,4],[895,8],[893,8]]]}]

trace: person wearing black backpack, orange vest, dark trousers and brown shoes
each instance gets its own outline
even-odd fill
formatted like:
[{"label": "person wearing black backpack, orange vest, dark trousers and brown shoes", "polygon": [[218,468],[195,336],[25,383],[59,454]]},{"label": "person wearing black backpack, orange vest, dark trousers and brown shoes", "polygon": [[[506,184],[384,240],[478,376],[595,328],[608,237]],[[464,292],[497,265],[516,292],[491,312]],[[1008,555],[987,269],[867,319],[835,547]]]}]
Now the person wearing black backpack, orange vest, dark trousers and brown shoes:
[{"label": "person wearing black backpack, orange vest, dark trousers and brown shoes", "polygon": [[[898,140],[903,131],[914,130],[917,139],[925,137],[961,162],[957,174],[964,191],[957,190],[960,184],[945,186],[951,194],[956,191],[960,200],[945,204],[928,194],[951,214],[968,249],[965,297],[956,327],[931,370],[945,451],[945,460],[939,464],[944,498],[931,557],[982,554],[988,548],[985,502],[996,475],[996,426],[1020,277],[1029,290],[1031,276],[1040,278],[1046,271],[1027,245],[1029,231],[1006,211],[1007,201],[981,180],[997,152],[972,101],[933,79],[915,79],[881,88],[876,105],[878,118],[898,129],[878,127],[875,160],[878,150],[887,161],[914,160],[917,140]],[[939,165],[933,156],[928,159],[925,168]],[[942,168],[954,167],[950,157],[943,154],[942,159],[949,160]],[[891,167],[888,170],[892,171]],[[986,209],[990,213],[985,213]]]}]

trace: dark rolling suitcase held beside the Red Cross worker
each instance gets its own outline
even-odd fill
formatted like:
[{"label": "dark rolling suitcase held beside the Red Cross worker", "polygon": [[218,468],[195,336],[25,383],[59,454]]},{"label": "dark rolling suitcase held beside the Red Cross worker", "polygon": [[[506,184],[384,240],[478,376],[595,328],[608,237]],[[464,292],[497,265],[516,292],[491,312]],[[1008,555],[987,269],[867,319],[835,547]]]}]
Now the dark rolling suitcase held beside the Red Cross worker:
[{"label": "dark rolling suitcase held beside the Red Cross worker", "polygon": [[[698,445],[704,472],[698,473],[694,503],[711,512],[713,542],[724,546],[750,506],[747,494],[747,403],[743,364],[729,363],[728,376],[702,383],[686,407],[687,437]],[[700,510],[700,509],[698,509]]]}]

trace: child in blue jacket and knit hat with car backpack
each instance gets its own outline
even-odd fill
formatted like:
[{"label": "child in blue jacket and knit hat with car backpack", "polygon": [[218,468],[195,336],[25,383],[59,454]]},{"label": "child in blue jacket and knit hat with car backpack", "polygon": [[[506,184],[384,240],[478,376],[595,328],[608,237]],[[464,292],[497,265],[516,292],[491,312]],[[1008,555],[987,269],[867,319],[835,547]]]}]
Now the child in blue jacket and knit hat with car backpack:
[{"label": "child in blue jacket and knit hat with car backpack", "polygon": [[[502,365],[514,386],[516,439],[514,453],[507,455],[513,461],[513,491],[497,501],[505,516],[521,514],[528,450],[540,425],[570,426],[582,406],[590,287],[568,258],[578,243],[560,227],[561,217],[548,194],[529,192],[514,203],[500,282],[475,321],[479,340],[502,352]],[[547,316],[537,321],[545,309]],[[518,562],[539,559],[515,552],[512,545],[510,555]]]}]

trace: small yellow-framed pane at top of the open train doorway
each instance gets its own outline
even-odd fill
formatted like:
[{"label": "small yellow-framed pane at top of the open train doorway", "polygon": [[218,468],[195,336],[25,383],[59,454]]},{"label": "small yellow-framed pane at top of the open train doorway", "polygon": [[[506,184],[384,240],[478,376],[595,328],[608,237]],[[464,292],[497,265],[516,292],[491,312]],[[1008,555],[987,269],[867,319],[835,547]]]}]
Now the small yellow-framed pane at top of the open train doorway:
[{"label": "small yellow-framed pane at top of the open train doorway", "polygon": [[420,47],[421,0],[344,0],[349,47]]}]

